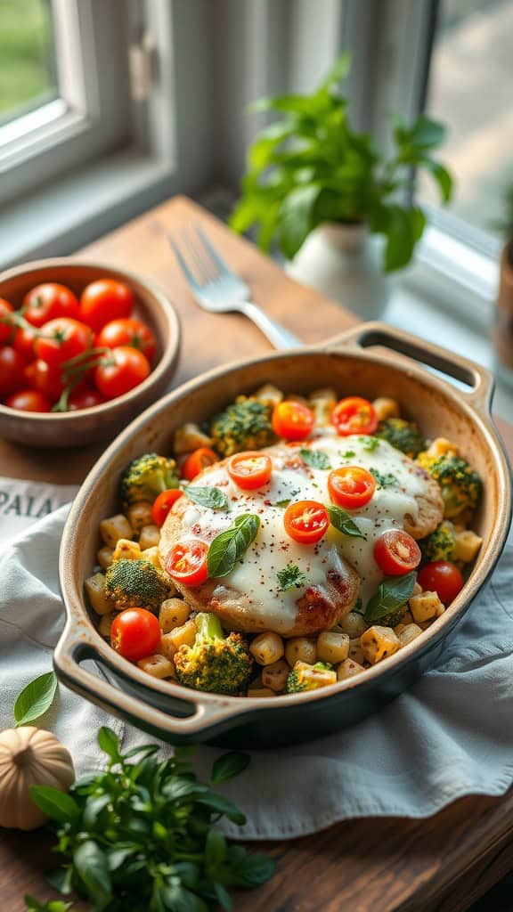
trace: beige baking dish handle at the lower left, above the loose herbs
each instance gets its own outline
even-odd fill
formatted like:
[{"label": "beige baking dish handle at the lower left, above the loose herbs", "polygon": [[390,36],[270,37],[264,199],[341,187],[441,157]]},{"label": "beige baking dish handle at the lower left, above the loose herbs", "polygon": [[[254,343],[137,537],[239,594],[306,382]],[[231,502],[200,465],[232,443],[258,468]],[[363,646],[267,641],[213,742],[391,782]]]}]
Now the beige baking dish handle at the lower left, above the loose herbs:
[{"label": "beige baking dish handle at the lower left, above the loose herbs", "polygon": [[[80,629],[79,629],[80,626]],[[84,628],[83,622],[68,620],[68,623],[58,641],[54,652],[54,666],[58,678],[75,690],[86,700],[96,703],[102,710],[129,719],[137,727],[149,731],[155,736],[170,736],[168,741],[173,743],[173,737],[178,743],[181,740],[190,741],[194,736],[205,730],[224,728],[223,723],[233,716],[241,716],[240,704],[234,705],[232,700],[217,697],[214,694],[186,691],[183,689],[177,695],[178,685],[168,681],[149,679],[146,672],[140,668],[130,666],[130,673],[123,668],[125,660],[113,653],[110,647],[96,642],[97,636]],[[110,654],[111,657],[110,658]],[[162,700],[171,700],[176,715],[157,709],[151,702],[143,702],[134,697],[122,687],[115,687],[103,676],[95,674],[81,664],[85,659],[93,659],[100,666],[108,668],[121,682],[133,688],[134,680],[138,681],[141,688],[148,687],[162,694]]]}]

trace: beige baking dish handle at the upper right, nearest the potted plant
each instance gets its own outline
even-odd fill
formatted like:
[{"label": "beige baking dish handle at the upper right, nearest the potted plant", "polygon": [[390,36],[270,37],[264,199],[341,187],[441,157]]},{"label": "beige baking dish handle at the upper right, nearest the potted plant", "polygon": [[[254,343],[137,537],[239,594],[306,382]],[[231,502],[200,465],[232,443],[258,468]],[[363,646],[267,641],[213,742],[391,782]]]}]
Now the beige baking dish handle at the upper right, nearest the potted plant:
[{"label": "beige baking dish handle at the upper right, nearest the potted plant", "polygon": [[341,333],[340,336],[329,339],[328,348],[337,348],[340,345],[371,348],[375,346],[390,348],[400,355],[420,361],[430,368],[435,368],[447,377],[459,380],[468,389],[461,389],[461,393],[469,399],[477,409],[489,413],[495,380],[487,368],[455,355],[448,348],[435,345],[426,339],[410,336],[402,329],[388,326],[386,323],[362,323]]}]

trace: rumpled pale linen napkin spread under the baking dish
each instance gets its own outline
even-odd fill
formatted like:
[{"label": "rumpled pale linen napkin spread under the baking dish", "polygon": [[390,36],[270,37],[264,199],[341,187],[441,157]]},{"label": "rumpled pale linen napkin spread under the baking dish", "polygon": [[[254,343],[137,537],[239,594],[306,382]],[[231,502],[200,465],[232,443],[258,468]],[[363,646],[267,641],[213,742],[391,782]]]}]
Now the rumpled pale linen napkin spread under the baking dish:
[{"label": "rumpled pale linen napkin spread under the baking dish", "polygon": [[[58,544],[66,507],[7,547],[0,558],[0,727],[16,696],[51,667],[63,625]],[[513,547],[413,689],[359,725],[318,741],[254,751],[225,792],[244,811],[245,839],[288,839],[350,817],[425,817],[467,794],[500,795],[513,782]],[[100,725],[124,747],[151,741],[63,686],[40,723],[71,751],[77,772],[99,768]],[[164,750],[169,750],[166,747]],[[201,775],[222,751],[201,747]]]}]

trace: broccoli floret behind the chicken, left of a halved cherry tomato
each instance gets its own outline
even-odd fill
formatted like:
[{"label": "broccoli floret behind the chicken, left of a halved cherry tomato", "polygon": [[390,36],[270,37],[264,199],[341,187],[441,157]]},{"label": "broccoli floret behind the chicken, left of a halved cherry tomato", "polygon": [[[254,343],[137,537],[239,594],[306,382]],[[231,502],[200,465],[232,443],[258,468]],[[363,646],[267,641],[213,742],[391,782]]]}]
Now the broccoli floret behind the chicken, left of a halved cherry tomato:
[{"label": "broccoli floret behind the chicken, left of a halved cherry tomato", "polygon": [[215,450],[231,456],[243,450],[260,450],[276,440],[271,427],[272,409],[252,396],[238,396],[215,415],[210,427]]}]

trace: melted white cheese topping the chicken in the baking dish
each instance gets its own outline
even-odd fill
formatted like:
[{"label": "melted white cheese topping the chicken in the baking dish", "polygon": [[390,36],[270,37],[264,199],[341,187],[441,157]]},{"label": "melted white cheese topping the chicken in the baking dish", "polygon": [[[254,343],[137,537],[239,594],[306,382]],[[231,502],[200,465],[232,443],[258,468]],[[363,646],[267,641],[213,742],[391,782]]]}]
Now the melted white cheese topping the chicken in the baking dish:
[{"label": "melted white cheese topping the chicken in the baking dish", "polygon": [[[376,540],[386,530],[403,528],[407,515],[418,516],[416,497],[425,491],[422,476],[403,453],[395,450],[385,440],[371,449],[374,438],[340,438],[332,429],[315,435],[304,446],[326,454],[330,469],[343,465],[358,465],[380,473],[386,484],[378,482],[372,500],[359,510],[351,511],[365,539],[341,534],[330,526],[318,544],[298,544],[285,532],[283,517],[288,502],[312,500],[329,504],[328,476],[330,469],[316,469],[306,464],[298,455],[301,444],[284,444],[275,453],[270,448],[273,461],[270,482],[257,491],[242,491],[233,482],[225,466],[213,466],[196,484],[210,485],[225,492],[229,511],[198,508],[195,504],[183,514],[183,524],[191,537],[210,543],[216,535],[233,525],[237,515],[256,513],[260,528],[255,541],[236,565],[235,570],[220,580],[223,586],[233,586],[245,592],[252,611],[263,623],[273,629],[286,631],[294,623],[296,602],[308,586],[323,586],[330,571],[340,572],[340,560],[345,559],[361,579],[360,597],[363,606],[382,580],[382,572],[373,557]],[[388,478],[385,479],[385,476]],[[286,503],[283,503],[286,502]],[[187,536],[188,537],[188,536]],[[287,592],[280,590],[277,571],[288,565],[297,566],[307,579],[307,584]]]}]

